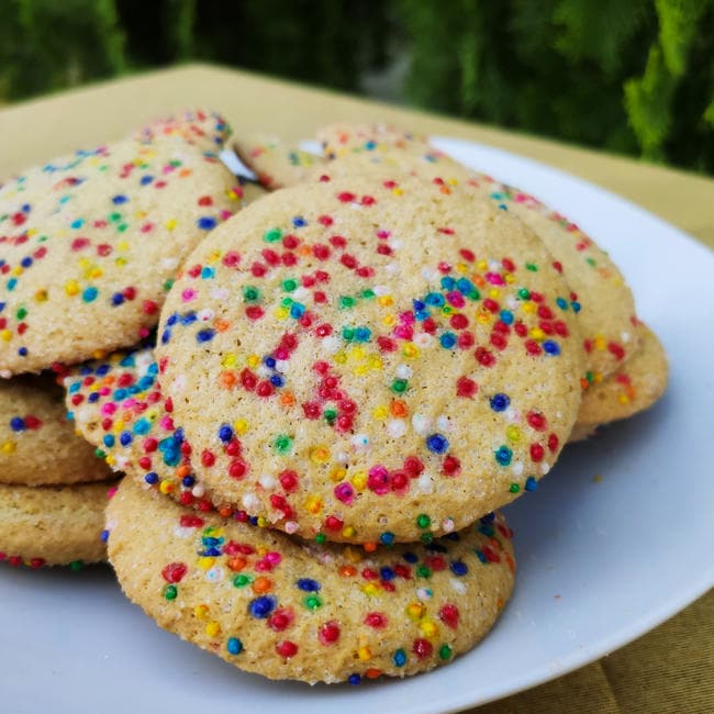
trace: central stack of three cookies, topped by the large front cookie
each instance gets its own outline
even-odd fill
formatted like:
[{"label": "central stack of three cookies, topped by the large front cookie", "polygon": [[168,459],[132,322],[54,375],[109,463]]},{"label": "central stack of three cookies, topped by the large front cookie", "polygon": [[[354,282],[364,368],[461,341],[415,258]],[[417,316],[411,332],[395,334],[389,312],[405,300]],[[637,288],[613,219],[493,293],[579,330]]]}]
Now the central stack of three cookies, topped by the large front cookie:
[{"label": "central stack of three cookies, topped by the large front cookie", "polygon": [[124,592],[271,678],[448,662],[513,587],[494,509],[576,422],[577,321],[543,242],[489,202],[403,171],[260,199],[189,256],[155,350],[65,378],[127,475],[108,511]]}]

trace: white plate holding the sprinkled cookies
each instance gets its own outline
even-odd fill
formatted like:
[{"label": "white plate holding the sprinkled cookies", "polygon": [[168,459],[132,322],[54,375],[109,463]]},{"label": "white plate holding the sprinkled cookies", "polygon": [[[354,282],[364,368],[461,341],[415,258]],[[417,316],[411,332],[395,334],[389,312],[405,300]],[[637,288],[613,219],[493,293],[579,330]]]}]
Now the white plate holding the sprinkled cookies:
[{"label": "white plate holding the sprinkled cookies", "polygon": [[607,248],[671,360],[670,389],[659,404],[600,439],[568,447],[540,488],[509,506],[518,578],[492,634],[448,667],[404,681],[272,683],[158,629],[123,599],[108,569],[3,567],[3,711],[453,711],[593,661],[712,587],[713,255],[567,174],[467,142],[437,145],[532,191]]}]

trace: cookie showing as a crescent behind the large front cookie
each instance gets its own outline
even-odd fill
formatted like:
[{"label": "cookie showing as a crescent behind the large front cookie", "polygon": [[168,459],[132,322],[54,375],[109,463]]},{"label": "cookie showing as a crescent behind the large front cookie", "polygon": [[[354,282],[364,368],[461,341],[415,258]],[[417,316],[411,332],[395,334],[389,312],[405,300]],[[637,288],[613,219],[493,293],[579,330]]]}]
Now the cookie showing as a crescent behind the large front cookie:
[{"label": "cookie showing as a crescent behind the large front cookie", "polygon": [[327,157],[342,157],[322,169],[331,175],[354,175],[383,165],[401,168],[439,182],[445,191],[461,187],[528,225],[562,267],[582,308],[583,388],[617,370],[637,350],[632,324],[635,303],[624,276],[607,254],[561,213],[520,189],[466,169],[409,132],[383,125],[335,125],[321,130],[319,137]]}]

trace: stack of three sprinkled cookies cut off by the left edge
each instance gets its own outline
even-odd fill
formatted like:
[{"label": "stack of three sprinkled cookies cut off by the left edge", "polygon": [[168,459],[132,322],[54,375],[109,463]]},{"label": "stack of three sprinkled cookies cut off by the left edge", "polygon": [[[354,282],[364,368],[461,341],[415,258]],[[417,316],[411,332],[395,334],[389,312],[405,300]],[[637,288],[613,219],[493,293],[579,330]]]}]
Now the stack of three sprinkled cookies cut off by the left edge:
[{"label": "stack of three sprinkled cookies cut off by the left edge", "polygon": [[241,204],[216,157],[227,135],[196,112],[0,188],[0,559],[105,558],[115,477],[51,370],[149,336],[182,258]]}]

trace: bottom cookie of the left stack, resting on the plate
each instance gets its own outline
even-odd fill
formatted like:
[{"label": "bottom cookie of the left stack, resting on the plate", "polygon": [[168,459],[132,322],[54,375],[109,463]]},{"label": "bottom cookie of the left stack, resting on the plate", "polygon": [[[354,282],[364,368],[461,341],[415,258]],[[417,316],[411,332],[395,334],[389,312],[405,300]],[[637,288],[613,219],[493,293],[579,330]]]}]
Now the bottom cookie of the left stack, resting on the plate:
[{"label": "bottom cookie of the left stack, resting on the plate", "polygon": [[0,483],[0,560],[10,565],[78,566],[107,558],[102,539],[111,483]]}]

